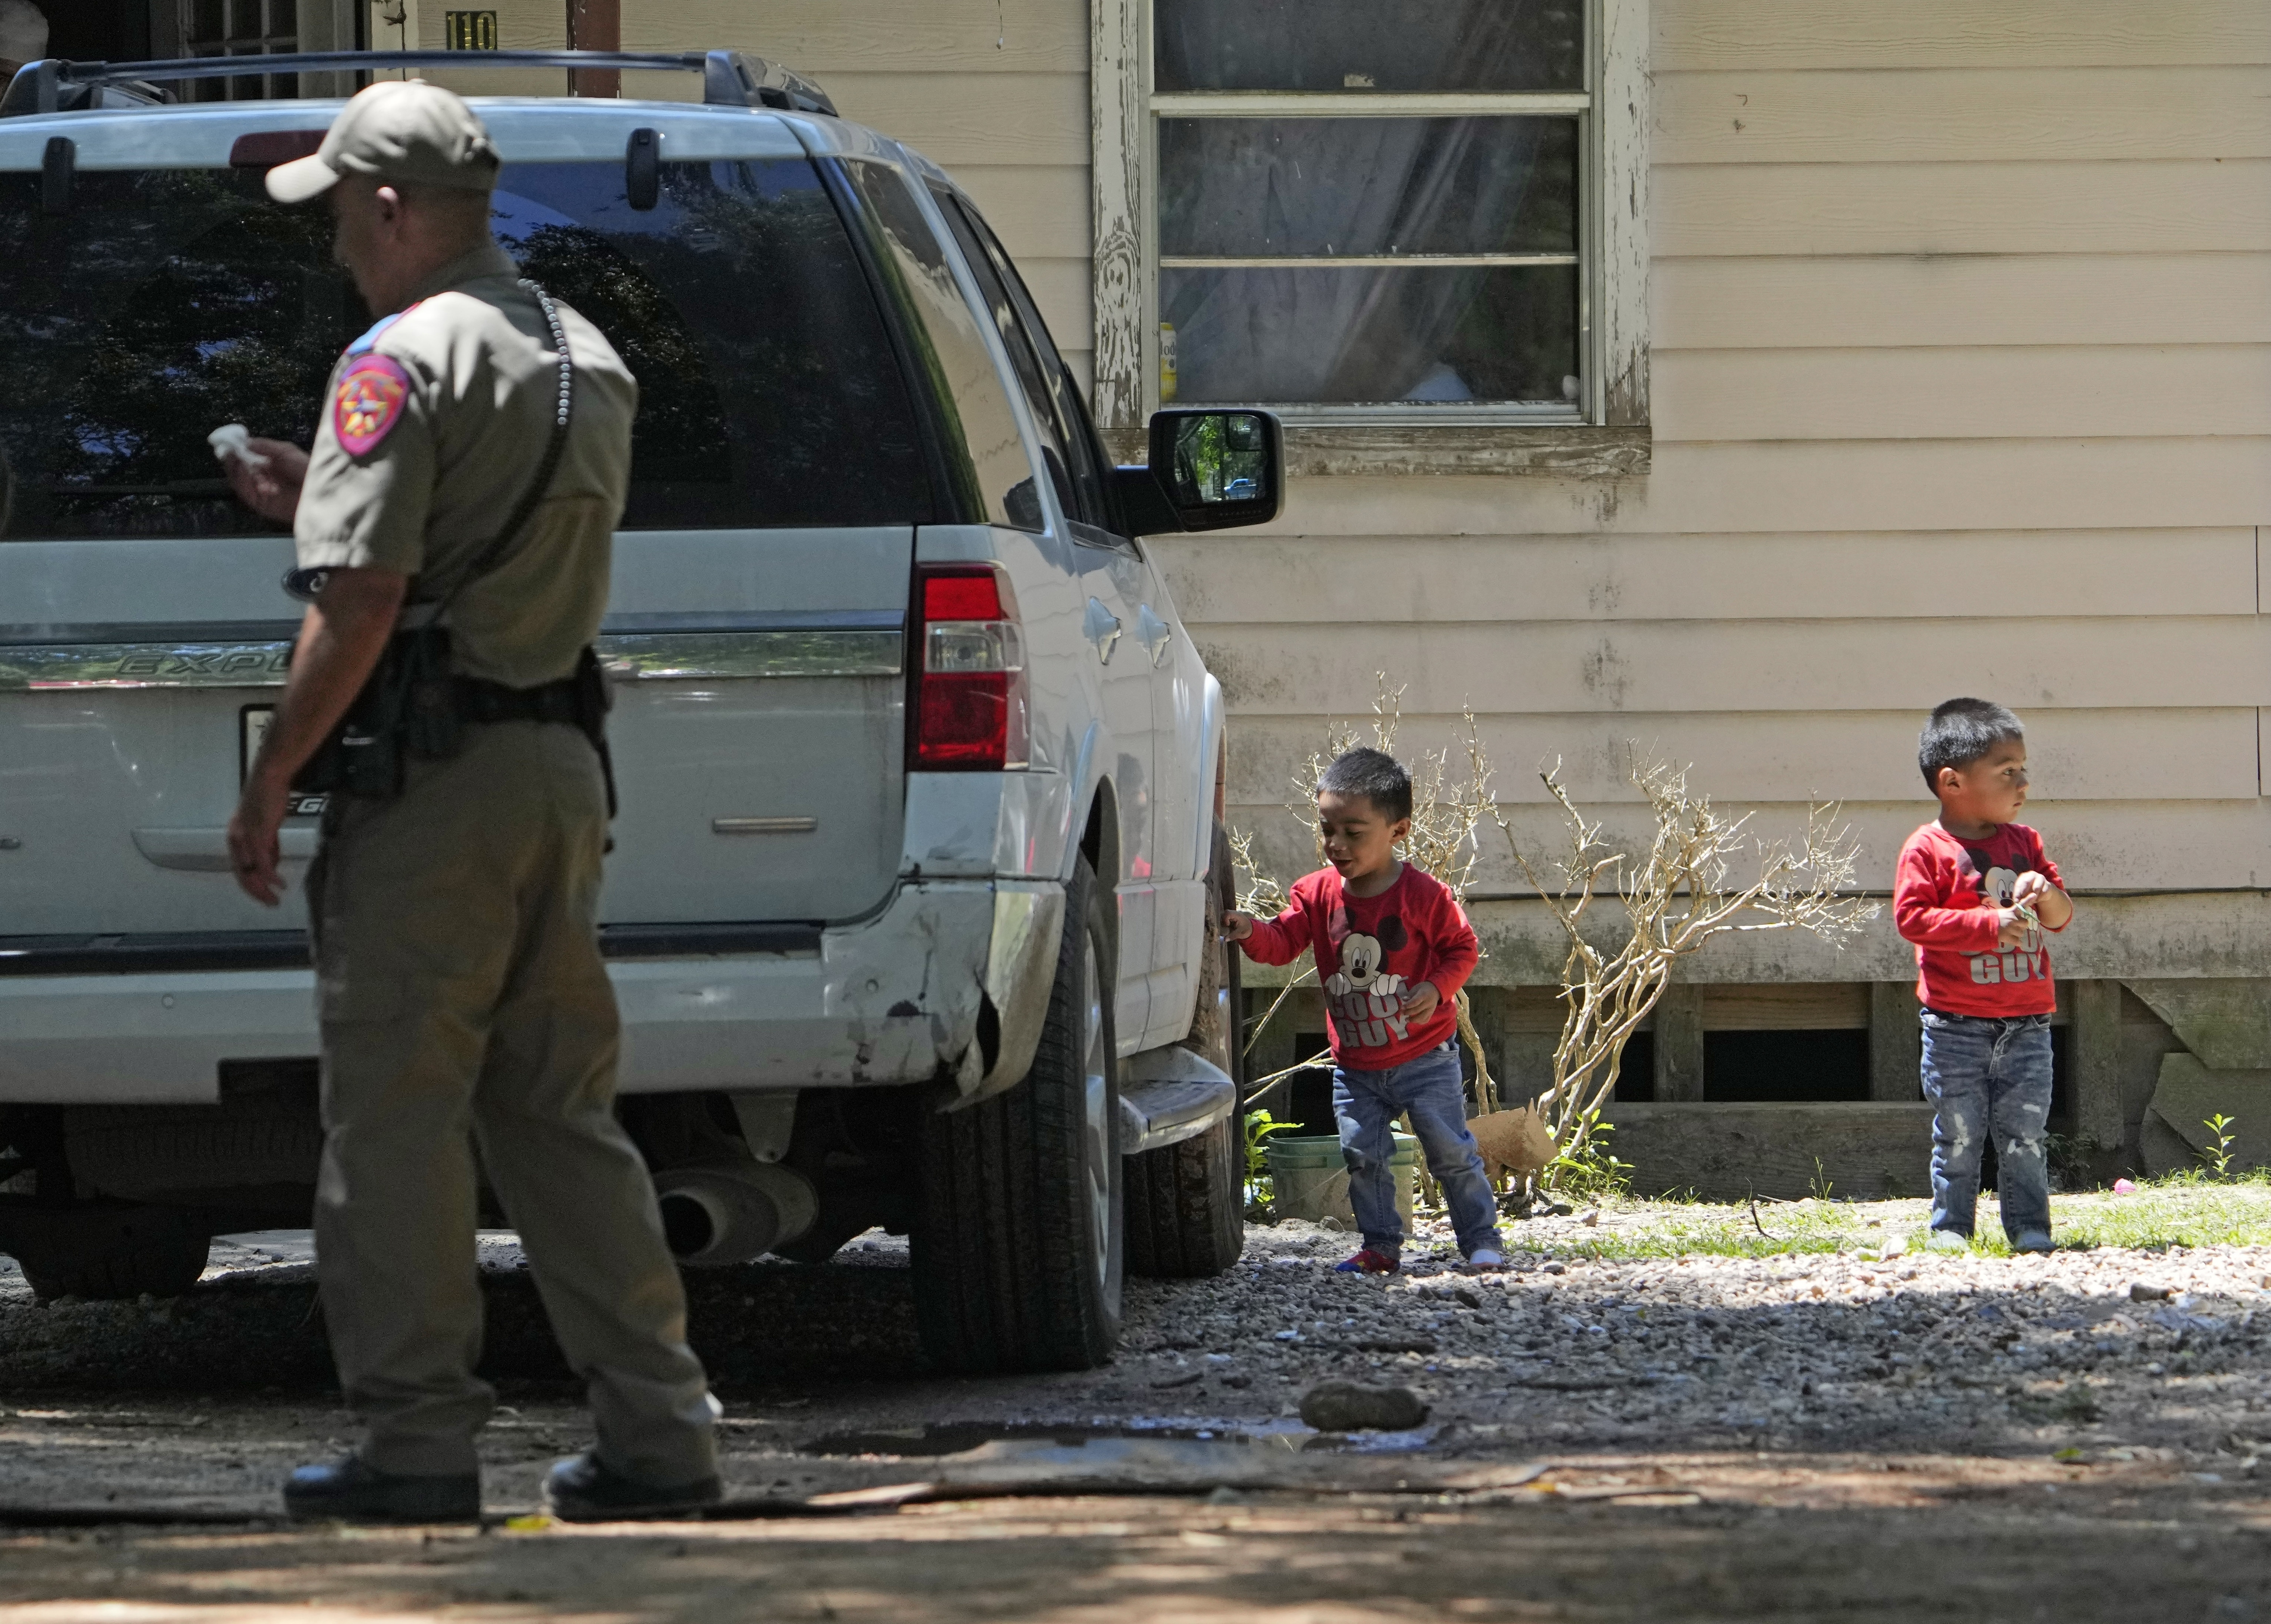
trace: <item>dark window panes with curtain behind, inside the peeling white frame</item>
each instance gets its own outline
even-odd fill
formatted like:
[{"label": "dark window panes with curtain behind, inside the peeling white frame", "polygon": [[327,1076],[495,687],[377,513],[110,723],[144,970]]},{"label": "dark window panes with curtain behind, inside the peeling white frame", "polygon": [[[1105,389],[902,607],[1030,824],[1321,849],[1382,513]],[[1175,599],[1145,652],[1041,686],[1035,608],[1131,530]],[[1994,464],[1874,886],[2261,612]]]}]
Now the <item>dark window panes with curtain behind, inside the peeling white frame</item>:
[{"label": "dark window panes with curtain behind, inside the peeling white frame", "polygon": [[1156,0],[1154,89],[1163,400],[1581,397],[1578,0]]}]

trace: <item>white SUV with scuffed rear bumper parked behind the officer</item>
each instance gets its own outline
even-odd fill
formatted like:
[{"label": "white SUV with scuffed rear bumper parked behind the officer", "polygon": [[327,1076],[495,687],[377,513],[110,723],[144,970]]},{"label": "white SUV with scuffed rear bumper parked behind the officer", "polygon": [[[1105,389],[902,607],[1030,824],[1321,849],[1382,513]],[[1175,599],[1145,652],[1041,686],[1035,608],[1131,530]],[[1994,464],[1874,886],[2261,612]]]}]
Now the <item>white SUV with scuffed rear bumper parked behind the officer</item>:
[{"label": "white SUV with scuffed rear bumper parked behind the officer", "polygon": [[[1136,536],[1274,516],[1276,422],[1160,413],[1151,468],[1115,470],[970,200],[795,75],[495,61],[709,95],[477,102],[497,241],[643,388],[602,940],[672,1245],[911,1231],[938,1363],[1099,1363],[1124,1265],[1215,1272],[1242,1238],[1222,690]],[[336,102],[123,77],[32,64],[0,102],[0,1249],[79,1295],[182,1290],[211,1233],[307,1222],[307,938],[223,847],[291,541],[207,432],[307,441],[368,320],[320,207],[261,189]]]}]

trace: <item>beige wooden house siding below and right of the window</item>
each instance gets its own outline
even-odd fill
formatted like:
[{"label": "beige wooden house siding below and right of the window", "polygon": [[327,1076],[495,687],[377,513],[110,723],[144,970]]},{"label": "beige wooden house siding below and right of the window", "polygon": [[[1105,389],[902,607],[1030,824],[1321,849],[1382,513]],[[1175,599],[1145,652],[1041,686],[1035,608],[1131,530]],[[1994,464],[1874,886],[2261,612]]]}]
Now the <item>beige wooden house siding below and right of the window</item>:
[{"label": "beige wooden house siding below and right of the window", "polygon": [[[1533,849],[1556,759],[1633,834],[1637,745],[1771,831],[1844,800],[1887,886],[1924,711],[1985,693],[2073,886],[2271,881],[2271,7],[1653,18],[1651,475],[1304,479],[1269,531],[1158,543],[1231,697],[1233,820],[1310,865],[1288,781],[1388,670],[1406,752],[1474,706]],[[2241,906],[2105,902],[2101,947],[2228,972],[2203,920]],[[1717,972],[1896,972],[1871,943]]]}]

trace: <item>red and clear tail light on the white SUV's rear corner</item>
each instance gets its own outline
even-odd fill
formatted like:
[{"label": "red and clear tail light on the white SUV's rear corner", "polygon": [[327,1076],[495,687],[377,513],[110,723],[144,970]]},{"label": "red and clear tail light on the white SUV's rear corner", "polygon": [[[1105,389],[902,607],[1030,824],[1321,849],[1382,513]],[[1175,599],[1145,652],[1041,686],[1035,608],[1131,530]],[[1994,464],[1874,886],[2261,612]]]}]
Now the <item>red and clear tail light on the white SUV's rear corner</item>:
[{"label": "red and clear tail light on the white SUV's rear corner", "polygon": [[927,566],[917,577],[915,770],[1024,765],[1026,686],[1017,597],[990,563]]}]

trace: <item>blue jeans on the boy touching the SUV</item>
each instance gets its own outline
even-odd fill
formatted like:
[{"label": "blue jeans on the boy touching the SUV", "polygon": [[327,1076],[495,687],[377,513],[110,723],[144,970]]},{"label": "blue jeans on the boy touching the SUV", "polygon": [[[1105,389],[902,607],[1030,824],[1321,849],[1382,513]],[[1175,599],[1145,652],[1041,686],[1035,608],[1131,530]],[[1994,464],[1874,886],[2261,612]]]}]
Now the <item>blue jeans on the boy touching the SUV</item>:
[{"label": "blue jeans on the boy touching the SUV", "polygon": [[1340,1154],[1349,1163],[1349,1206],[1365,1245],[1390,1256],[1403,1249],[1403,1215],[1397,1211],[1394,1120],[1413,1117],[1413,1133],[1426,1152],[1428,1172],[1442,1188],[1458,1231],[1458,1249],[1474,1256],[1483,1247],[1501,1252],[1499,1199],[1483,1172],[1483,1154],[1467,1131],[1467,1088],[1458,1074],[1458,1049],[1442,1045],[1385,1072],[1333,1068],[1333,1115],[1340,1117]]}]

